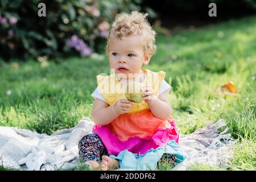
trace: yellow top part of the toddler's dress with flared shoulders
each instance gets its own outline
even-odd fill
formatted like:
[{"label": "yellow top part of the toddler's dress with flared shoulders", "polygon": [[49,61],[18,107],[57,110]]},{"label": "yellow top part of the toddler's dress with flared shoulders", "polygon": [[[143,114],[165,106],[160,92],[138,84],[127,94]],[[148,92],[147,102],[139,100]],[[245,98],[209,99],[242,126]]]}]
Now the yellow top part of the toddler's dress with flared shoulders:
[{"label": "yellow top part of the toddler's dress with flared shoulders", "polygon": [[[158,96],[160,85],[164,80],[164,76],[166,76],[166,72],[153,72],[144,68],[142,68],[142,71],[146,72],[146,78],[144,79],[143,84],[150,85],[154,90],[154,95]],[[97,84],[100,93],[109,105],[113,105],[119,99],[126,99],[125,92],[123,91],[124,89],[115,74],[109,76],[97,75]],[[129,113],[137,113],[138,111],[148,108],[149,107],[145,101],[142,101],[141,103],[134,102]]]}]

